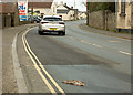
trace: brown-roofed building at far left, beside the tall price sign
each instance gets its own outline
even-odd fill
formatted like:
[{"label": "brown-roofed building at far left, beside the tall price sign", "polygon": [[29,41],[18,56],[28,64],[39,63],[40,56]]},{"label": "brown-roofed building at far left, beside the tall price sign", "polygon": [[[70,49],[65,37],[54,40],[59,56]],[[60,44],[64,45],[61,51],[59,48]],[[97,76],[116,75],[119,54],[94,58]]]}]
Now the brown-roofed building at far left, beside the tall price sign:
[{"label": "brown-roofed building at far left, beside the tall price sign", "polygon": [[2,18],[2,28],[19,25],[19,10],[16,2],[1,3],[0,15]]}]

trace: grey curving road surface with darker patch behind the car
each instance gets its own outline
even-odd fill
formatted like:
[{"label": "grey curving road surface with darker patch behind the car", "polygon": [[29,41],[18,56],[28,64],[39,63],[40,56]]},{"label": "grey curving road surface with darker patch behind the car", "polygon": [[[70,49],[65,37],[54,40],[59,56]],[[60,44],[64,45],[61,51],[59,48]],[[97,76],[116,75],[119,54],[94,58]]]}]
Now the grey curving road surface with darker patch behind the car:
[{"label": "grey curving road surface with darker patch behind the car", "polygon": [[[131,92],[131,41],[82,30],[81,23],[85,21],[65,22],[65,36],[39,35],[37,27],[25,39],[45,71],[65,93]],[[83,81],[85,86],[63,84],[65,80]],[[50,84],[54,86],[52,82]]]}]

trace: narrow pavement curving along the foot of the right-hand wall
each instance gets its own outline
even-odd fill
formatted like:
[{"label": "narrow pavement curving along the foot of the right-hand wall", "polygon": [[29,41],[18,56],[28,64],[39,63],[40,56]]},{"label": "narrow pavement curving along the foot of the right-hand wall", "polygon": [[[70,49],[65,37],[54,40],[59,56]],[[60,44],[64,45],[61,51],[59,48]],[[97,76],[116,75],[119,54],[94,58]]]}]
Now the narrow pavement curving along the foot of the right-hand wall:
[{"label": "narrow pavement curving along the foot of the right-hand wall", "polygon": [[104,35],[117,36],[117,38],[122,38],[122,39],[133,40],[132,34],[99,30],[99,29],[91,28],[91,27],[86,25],[85,23],[80,24],[79,28],[83,29],[85,31],[89,31],[89,32],[93,32],[93,33],[100,33],[100,34],[104,34]]}]

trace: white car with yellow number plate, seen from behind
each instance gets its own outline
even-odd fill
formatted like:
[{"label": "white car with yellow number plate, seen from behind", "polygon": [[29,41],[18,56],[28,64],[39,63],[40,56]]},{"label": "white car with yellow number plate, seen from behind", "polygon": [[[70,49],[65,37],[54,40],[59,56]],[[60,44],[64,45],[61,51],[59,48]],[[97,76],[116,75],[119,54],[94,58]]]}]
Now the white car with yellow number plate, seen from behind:
[{"label": "white car with yellow number plate, seen from behind", "polygon": [[39,24],[38,33],[41,35],[47,32],[58,32],[58,34],[65,35],[65,23],[61,17],[44,15]]}]

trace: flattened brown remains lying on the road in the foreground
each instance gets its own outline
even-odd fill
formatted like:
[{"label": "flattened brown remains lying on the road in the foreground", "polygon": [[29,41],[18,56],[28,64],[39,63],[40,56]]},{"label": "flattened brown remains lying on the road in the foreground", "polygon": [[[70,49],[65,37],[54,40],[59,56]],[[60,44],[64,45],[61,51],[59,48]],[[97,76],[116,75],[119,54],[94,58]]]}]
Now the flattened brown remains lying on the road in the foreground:
[{"label": "flattened brown remains lying on the road in the foreground", "polygon": [[75,80],[66,80],[63,81],[64,84],[75,85],[75,86],[85,86],[85,83],[82,81],[75,81]]}]

